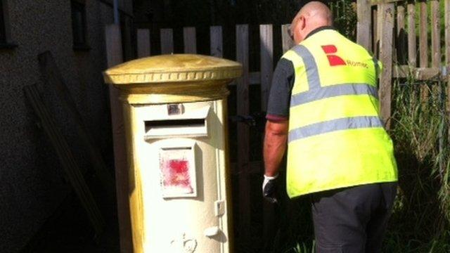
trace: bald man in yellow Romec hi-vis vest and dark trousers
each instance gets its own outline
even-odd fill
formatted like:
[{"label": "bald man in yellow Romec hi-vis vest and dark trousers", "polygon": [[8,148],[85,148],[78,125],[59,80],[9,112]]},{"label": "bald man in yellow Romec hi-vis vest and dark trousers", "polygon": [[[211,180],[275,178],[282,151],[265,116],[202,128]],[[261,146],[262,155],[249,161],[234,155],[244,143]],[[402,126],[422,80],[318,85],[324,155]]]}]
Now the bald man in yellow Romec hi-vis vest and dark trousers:
[{"label": "bald man in yellow Romec hi-vis vest and dark trousers", "polygon": [[330,9],[311,1],[290,26],[297,45],[274,72],[263,194],[277,201],[288,144],[288,195],[311,197],[317,252],[380,252],[397,192],[392,141],[379,115],[381,66],[331,25]]}]

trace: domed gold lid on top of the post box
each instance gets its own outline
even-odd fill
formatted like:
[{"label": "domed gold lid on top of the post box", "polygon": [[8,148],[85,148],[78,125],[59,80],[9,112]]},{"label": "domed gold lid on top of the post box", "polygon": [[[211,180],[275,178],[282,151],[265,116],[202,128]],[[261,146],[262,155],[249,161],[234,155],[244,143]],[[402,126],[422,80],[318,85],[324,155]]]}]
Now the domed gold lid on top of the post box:
[{"label": "domed gold lid on top of the post box", "polygon": [[241,74],[242,65],[232,60],[171,54],[122,63],[103,72],[103,77],[108,84],[148,84],[234,79]]}]

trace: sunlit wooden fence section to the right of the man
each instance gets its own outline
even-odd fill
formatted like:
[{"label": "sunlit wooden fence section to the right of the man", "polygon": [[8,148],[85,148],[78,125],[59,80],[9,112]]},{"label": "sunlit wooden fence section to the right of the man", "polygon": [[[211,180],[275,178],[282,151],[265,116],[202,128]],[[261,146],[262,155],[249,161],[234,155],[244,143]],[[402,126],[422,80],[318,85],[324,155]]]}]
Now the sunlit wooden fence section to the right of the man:
[{"label": "sunlit wooden fence section to the right of the man", "polygon": [[[450,0],[356,2],[356,41],[373,51],[384,65],[380,100],[383,118],[387,120],[392,110],[392,78],[448,82]],[[448,85],[446,95],[449,98]],[[422,96],[428,96],[428,89],[422,89]]]}]

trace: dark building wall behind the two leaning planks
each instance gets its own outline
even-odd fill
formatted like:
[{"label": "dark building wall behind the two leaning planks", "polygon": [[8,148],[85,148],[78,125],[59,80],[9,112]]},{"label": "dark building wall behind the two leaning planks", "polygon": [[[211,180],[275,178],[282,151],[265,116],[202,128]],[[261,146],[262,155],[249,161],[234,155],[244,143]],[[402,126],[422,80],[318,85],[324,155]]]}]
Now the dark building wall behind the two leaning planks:
[{"label": "dark building wall behind the two leaning planks", "polygon": [[[41,81],[39,53],[53,53],[84,122],[112,168],[108,87],[101,72],[106,68],[104,27],[113,22],[113,8],[111,1],[85,1],[91,50],[74,51],[70,1],[6,1],[10,40],[18,47],[0,49],[0,252],[18,252],[70,192],[23,86],[38,84],[79,166],[90,166],[75,122],[54,87]],[[131,0],[123,2],[124,11],[132,13]]]}]

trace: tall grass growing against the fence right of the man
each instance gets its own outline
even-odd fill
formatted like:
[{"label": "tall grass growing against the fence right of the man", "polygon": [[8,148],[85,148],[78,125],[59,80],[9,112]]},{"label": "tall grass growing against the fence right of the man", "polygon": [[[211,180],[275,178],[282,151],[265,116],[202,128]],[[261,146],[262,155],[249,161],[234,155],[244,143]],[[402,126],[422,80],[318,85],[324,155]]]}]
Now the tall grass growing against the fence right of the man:
[{"label": "tall grass growing against the fence right of the man", "polygon": [[[421,91],[428,91],[428,97]],[[442,82],[394,82],[399,195],[384,252],[450,252],[448,117]]]}]

